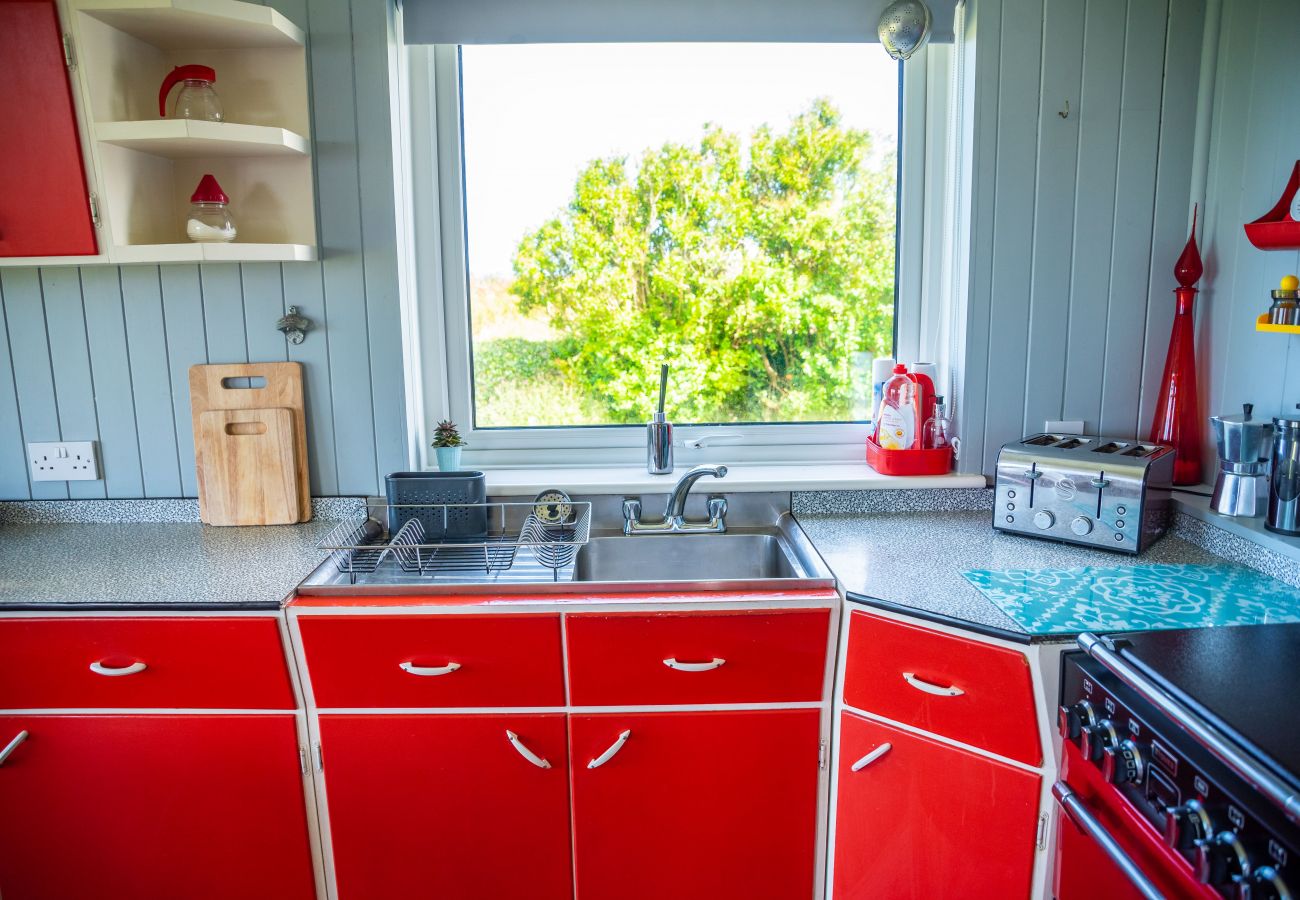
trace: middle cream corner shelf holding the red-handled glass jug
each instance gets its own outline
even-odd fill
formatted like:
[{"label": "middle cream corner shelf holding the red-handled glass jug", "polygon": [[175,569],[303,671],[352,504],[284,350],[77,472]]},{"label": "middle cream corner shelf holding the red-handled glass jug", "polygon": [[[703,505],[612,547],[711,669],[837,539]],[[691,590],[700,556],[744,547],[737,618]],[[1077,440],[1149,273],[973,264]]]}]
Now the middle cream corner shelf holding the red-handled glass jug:
[{"label": "middle cream corner shelf holding the red-handled glass jug", "polygon": [[100,122],[95,139],[168,159],[196,156],[307,156],[300,134],[268,125],[159,118],[144,122]]}]

